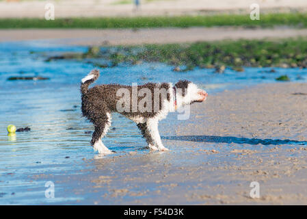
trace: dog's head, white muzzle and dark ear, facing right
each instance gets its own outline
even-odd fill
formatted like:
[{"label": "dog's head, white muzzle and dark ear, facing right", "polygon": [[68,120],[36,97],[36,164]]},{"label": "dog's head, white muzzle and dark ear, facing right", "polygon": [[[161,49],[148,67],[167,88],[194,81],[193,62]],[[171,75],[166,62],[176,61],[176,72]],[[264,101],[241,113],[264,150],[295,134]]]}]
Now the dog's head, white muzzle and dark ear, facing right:
[{"label": "dog's head, white muzzle and dark ear, facing right", "polygon": [[191,81],[178,81],[175,84],[176,97],[178,105],[187,105],[191,103],[201,103],[206,100],[208,94]]}]

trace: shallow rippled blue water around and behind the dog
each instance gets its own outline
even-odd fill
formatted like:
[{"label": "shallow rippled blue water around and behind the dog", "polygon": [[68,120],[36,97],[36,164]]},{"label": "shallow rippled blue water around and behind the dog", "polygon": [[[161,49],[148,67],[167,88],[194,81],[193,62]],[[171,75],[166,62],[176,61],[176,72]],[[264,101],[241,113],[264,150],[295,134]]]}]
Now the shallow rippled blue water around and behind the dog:
[{"label": "shallow rippled blue water around and behind the dog", "polygon": [[[48,175],[63,175],[70,172],[82,175],[91,168],[85,160],[96,155],[90,146],[92,124],[81,117],[79,81],[88,74],[92,64],[75,60],[44,62],[46,54],[68,51],[87,51],[87,47],[70,47],[48,42],[14,42],[0,44],[0,204],[66,203],[83,197],[71,194],[64,198],[46,201],[44,183]],[[196,69],[177,73],[173,66],[145,63],[135,66],[120,65],[101,69],[96,83],[146,83],[189,79],[206,89],[209,94],[225,89],[252,86],[257,83],[276,83],[275,78],[288,75],[292,81],[307,81],[307,69],[245,68],[244,73],[227,69],[224,74],[213,69]],[[50,77],[45,81],[8,81],[12,76]],[[144,150],[134,123],[118,114],[113,115],[112,126],[103,140],[115,155]],[[171,115],[161,122],[164,134],[174,136],[172,125],[178,123]],[[181,122],[183,123],[183,122]],[[31,131],[8,136],[10,124],[30,127]],[[167,127],[167,128],[165,128]],[[168,129],[169,128],[169,129]],[[168,139],[168,138],[164,138]],[[210,144],[210,146],[212,146]],[[31,177],[30,177],[31,176]],[[36,178],[46,180],[34,180]],[[59,188],[64,190],[65,186]]]}]

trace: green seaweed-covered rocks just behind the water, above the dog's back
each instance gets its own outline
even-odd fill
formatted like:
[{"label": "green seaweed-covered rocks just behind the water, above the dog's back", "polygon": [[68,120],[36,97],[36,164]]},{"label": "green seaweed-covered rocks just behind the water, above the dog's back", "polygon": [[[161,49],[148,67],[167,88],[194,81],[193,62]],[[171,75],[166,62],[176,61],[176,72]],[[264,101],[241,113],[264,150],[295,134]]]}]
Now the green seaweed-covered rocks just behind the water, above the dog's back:
[{"label": "green seaweed-covered rocks just behind the water, above the dog's back", "polygon": [[306,38],[283,40],[225,40],[189,44],[146,44],[112,47],[105,54],[112,62],[163,62],[173,66],[217,68],[307,67]]}]

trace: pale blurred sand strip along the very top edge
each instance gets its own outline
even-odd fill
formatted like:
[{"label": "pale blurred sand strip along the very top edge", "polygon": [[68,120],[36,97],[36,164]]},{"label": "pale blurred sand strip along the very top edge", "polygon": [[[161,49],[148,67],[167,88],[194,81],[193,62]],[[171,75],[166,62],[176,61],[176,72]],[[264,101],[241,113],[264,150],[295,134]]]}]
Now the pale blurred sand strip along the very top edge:
[{"label": "pale blurred sand strip along the very top edge", "polygon": [[[131,0],[132,2],[133,0]],[[121,0],[0,1],[0,18],[44,18],[46,3],[55,6],[55,18],[79,16],[159,16],[183,14],[249,14],[250,5],[258,3],[261,12],[306,11],[305,0],[157,0],[141,1],[135,11],[132,3]]]}]

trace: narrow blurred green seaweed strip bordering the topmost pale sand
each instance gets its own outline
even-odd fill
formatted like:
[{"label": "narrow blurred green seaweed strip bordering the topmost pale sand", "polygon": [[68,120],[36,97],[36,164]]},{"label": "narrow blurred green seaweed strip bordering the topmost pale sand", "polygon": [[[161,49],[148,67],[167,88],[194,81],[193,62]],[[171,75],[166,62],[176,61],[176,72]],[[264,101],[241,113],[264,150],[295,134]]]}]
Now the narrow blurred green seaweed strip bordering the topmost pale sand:
[{"label": "narrow blurred green seaweed strip bordering the topmost pale sand", "polygon": [[261,14],[261,20],[252,21],[249,14],[215,14],[200,16],[139,16],[98,18],[0,18],[0,28],[147,28],[147,27],[213,27],[243,26],[273,27],[288,25],[307,27],[306,13]]}]

